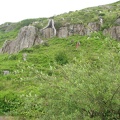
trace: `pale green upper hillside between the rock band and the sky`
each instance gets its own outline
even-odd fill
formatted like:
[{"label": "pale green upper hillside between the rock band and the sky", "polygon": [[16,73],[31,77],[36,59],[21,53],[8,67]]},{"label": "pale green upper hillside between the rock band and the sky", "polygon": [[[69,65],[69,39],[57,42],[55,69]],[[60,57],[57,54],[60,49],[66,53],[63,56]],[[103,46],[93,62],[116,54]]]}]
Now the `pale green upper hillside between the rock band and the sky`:
[{"label": "pale green upper hillside between the rock band and the sky", "polygon": [[[55,21],[56,29],[59,29],[61,26],[69,24],[82,23],[87,25],[89,22],[99,22],[99,18],[102,17],[104,24],[101,30],[103,30],[116,25],[115,21],[120,16],[119,11],[120,1],[113,4],[70,11],[69,13],[52,16],[51,18]],[[49,18],[26,19],[17,23],[7,22],[0,25],[0,47],[5,40],[15,39],[21,27],[33,25],[41,29],[47,25],[48,19]]]}]

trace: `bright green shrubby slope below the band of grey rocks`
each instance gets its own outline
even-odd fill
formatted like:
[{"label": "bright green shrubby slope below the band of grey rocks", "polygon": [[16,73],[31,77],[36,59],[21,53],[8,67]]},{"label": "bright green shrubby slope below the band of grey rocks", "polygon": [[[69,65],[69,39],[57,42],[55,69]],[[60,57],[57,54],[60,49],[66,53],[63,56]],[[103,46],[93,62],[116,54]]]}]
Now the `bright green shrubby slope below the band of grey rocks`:
[{"label": "bright green shrubby slope below the band of grey rocks", "polygon": [[100,32],[1,55],[0,70],[0,114],[28,120],[120,118],[120,43]]}]

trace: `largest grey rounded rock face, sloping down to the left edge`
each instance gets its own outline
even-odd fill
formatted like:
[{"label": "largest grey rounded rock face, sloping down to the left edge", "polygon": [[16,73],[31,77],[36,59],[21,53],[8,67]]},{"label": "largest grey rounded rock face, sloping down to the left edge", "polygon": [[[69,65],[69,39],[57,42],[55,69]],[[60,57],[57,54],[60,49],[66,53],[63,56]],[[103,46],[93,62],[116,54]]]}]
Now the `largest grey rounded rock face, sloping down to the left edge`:
[{"label": "largest grey rounded rock face, sloping down to the left edge", "polygon": [[38,36],[38,29],[33,26],[21,28],[16,40],[6,41],[1,49],[2,53],[16,53],[24,48],[40,44],[42,40]]}]

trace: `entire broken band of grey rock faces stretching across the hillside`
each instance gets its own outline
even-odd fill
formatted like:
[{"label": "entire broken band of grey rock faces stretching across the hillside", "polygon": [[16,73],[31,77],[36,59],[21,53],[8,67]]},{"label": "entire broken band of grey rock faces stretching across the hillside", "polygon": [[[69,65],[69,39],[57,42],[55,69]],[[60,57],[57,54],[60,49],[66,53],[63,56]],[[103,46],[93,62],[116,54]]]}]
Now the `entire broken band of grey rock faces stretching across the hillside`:
[{"label": "entire broken band of grey rock faces stretching across the hillside", "polygon": [[[117,22],[119,22],[119,20]],[[17,53],[24,48],[30,48],[33,45],[41,44],[43,42],[41,38],[45,39],[54,36],[65,38],[75,34],[90,35],[92,32],[99,30],[100,23],[91,22],[87,26],[84,26],[83,24],[66,25],[56,31],[54,27],[54,21],[50,19],[48,25],[41,30],[38,30],[34,26],[25,26],[21,28],[17,39],[6,41],[3,47],[0,49],[0,53]],[[103,34],[109,34],[112,38],[120,40],[120,26],[105,29]]]}]

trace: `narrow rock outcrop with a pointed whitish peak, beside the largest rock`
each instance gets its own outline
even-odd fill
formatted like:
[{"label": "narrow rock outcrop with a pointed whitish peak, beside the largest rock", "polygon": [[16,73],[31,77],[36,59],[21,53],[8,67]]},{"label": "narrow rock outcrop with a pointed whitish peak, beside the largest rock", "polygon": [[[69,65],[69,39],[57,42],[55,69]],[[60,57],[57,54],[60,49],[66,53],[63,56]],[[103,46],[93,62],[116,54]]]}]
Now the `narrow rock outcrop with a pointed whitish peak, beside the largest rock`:
[{"label": "narrow rock outcrop with a pointed whitish peak, beside the largest rock", "polygon": [[54,27],[54,20],[50,19],[48,25],[40,30],[41,36],[43,38],[51,38],[56,36],[56,29]]}]

